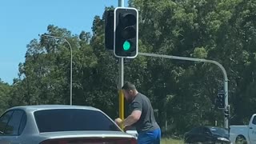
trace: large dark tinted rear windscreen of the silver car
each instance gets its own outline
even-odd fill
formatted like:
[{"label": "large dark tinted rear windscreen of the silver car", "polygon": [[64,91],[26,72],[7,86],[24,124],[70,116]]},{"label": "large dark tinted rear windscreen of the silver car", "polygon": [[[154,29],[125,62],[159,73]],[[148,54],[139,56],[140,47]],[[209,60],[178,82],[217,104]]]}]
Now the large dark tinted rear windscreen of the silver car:
[{"label": "large dark tinted rear windscreen of the silver car", "polygon": [[34,112],[34,118],[41,133],[74,130],[120,131],[114,122],[97,110],[38,110]]}]

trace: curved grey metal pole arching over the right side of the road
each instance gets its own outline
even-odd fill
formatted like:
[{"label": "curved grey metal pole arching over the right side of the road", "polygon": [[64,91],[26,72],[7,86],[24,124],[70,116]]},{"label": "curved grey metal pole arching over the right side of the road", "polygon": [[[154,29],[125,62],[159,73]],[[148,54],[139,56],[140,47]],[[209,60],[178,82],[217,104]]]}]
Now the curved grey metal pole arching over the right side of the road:
[{"label": "curved grey metal pole arching over the right side of the road", "polygon": [[[163,54],[148,54],[148,53],[138,53],[139,55],[148,56],[148,57],[158,57],[158,58],[170,58],[170,59],[179,59],[179,60],[185,60],[185,61],[194,61],[194,62],[209,62],[214,63],[217,65],[223,73],[224,78],[224,92],[225,92],[225,108],[228,108],[228,78],[226,74],[225,68],[218,62],[213,60],[207,60],[207,59],[200,59],[200,58],[186,58],[186,57],[178,57],[178,56],[171,56],[171,55],[163,55]],[[228,128],[229,119],[224,117],[224,127]]]}]

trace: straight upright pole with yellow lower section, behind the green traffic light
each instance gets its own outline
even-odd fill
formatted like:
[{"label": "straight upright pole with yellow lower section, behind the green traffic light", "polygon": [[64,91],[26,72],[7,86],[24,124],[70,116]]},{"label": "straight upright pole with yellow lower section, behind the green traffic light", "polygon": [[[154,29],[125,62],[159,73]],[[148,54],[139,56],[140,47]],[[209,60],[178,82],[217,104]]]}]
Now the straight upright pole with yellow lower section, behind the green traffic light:
[{"label": "straight upright pole with yellow lower section, behind the green traffic light", "polygon": [[[118,0],[118,6],[124,7],[124,0]],[[124,100],[122,94],[122,86],[123,86],[123,58],[119,58],[119,118],[124,119]]]}]

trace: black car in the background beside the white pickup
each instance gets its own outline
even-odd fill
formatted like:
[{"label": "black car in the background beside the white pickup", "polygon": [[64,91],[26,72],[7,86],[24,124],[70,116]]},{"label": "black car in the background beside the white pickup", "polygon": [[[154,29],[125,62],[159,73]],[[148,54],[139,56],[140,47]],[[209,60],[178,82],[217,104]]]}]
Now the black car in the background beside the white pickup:
[{"label": "black car in the background beside the white pickup", "polygon": [[186,132],[185,143],[231,143],[228,130],[217,126],[197,126]]}]

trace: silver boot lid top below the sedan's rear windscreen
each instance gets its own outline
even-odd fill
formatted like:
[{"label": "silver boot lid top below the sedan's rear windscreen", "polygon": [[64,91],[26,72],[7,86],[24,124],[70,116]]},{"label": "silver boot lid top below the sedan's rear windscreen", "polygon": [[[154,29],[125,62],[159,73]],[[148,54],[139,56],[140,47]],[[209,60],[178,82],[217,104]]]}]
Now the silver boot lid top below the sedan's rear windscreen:
[{"label": "silver boot lid top below the sedan's rear windscreen", "polygon": [[60,131],[40,133],[47,138],[134,138],[122,131]]}]

